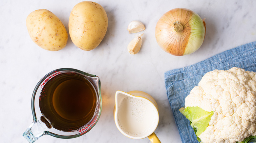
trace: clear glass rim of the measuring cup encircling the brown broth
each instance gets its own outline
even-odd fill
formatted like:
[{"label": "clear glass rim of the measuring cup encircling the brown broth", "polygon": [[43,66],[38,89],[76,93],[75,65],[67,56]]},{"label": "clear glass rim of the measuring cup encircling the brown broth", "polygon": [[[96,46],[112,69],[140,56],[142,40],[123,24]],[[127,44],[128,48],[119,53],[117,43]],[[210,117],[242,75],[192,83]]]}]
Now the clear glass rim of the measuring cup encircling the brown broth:
[{"label": "clear glass rim of the measuring cup encircling the brown broth", "polygon": [[[36,113],[35,113],[35,107],[34,107],[34,101],[35,101],[35,95],[36,95],[36,92],[38,90],[38,88],[40,87],[40,85],[43,83],[44,80],[46,80],[50,75],[52,75],[53,73],[57,73],[57,72],[61,72],[61,71],[70,71],[70,72],[77,72],[77,73],[80,73],[80,74],[83,74],[83,75],[86,75],[86,76],[89,76],[89,77],[97,77],[98,81],[98,85],[97,85],[97,94],[98,94],[98,98],[99,98],[99,107],[98,107],[98,115],[95,117],[96,120],[93,120],[93,125],[88,129],[88,130],[82,130],[80,133],[78,134],[75,134],[75,135],[58,135],[58,134],[54,134],[50,131],[46,131],[45,134],[47,135],[51,135],[51,136],[54,136],[54,137],[57,137],[57,138],[75,138],[75,137],[78,137],[78,136],[81,136],[87,132],[89,132],[97,123],[100,115],[101,115],[101,110],[102,110],[102,98],[101,98],[101,91],[100,91],[100,79],[97,75],[94,75],[94,74],[90,74],[90,73],[87,73],[87,72],[84,72],[84,71],[80,71],[80,70],[77,70],[77,69],[73,69],[73,68],[60,68],[60,69],[56,69],[56,70],[53,70],[51,72],[49,72],[48,74],[46,74],[43,78],[40,79],[40,81],[37,83],[37,85],[35,86],[34,90],[33,90],[33,93],[32,93],[32,99],[31,99],[31,109],[32,109],[32,116],[33,116],[33,122],[37,122],[37,117],[36,117]],[[94,86],[94,85],[93,85]]]}]

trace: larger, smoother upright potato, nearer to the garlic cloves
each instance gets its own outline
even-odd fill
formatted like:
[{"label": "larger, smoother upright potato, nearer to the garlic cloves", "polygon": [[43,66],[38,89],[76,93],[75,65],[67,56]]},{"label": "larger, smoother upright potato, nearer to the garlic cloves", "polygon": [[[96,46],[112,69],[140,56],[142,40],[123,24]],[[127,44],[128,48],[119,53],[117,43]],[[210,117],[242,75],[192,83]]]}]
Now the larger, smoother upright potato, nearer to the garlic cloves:
[{"label": "larger, smoother upright potato, nearer to the garlic cloves", "polygon": [[95,2],[80,2],[70,13],[70,38],[82,50],[90,51],[96,48],[104,38],[107,28],[107,13]]}]

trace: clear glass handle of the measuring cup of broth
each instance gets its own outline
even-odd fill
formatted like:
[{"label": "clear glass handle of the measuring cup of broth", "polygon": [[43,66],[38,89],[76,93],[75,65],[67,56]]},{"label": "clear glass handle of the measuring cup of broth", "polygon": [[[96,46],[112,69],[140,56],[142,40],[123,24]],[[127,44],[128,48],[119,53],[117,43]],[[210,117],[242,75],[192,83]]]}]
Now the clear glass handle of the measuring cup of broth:
[{"label": "clear glass handle of the measuring cup of broth", "polygon": [[29,128],[23,133],[23,136],[29,141],[29,143],[33,143],[42,135],[45,135],[46,131],[42,127],[42,125],[36,121],[34,121]]}]

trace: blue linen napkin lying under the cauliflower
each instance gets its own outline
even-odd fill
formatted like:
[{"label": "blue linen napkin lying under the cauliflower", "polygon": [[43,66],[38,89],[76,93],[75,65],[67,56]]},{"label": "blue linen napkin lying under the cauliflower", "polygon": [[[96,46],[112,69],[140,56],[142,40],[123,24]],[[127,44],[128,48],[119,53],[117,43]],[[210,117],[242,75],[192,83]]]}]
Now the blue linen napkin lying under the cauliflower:
[{"label": "blue linen napkin lying under the cauliflower", "polygon": [[168,100],[182,143],[198,143],[189,120],[179,111],[184,107],[186,96],[193,87],[198,86],[206,72],[215,69],[229,70],[232,67],[256,72],[256,41],[224,51],[194,65],[164,73]]}]

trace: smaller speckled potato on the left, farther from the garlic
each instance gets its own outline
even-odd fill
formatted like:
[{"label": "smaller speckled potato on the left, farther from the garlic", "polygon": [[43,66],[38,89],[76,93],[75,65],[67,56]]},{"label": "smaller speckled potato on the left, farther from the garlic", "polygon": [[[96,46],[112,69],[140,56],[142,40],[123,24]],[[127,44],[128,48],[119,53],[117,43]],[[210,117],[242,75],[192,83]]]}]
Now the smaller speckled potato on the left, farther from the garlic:
[{"label": "smaller speckled potato on the left, farther from the garlic", "polygon": [[68,33],[60,19],[47,9],[31,12],[26,20],[31,39],[41,48],[49,51],[63,49]]}]

